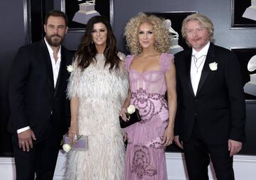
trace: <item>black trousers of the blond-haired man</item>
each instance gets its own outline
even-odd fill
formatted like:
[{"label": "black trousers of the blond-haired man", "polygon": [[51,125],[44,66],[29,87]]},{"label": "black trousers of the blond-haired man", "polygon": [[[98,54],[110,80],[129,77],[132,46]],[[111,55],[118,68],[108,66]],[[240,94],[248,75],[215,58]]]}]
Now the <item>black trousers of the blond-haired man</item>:
[{"label": "black trousers of the blond-haired man", "polygon": [[198,124],[195,123],[191,140],[183,142],[183,148],[190,180],[207,180],[210,160],[218,180],[235,179],[228,141],[223,145],[208,145],[203,140]]}]

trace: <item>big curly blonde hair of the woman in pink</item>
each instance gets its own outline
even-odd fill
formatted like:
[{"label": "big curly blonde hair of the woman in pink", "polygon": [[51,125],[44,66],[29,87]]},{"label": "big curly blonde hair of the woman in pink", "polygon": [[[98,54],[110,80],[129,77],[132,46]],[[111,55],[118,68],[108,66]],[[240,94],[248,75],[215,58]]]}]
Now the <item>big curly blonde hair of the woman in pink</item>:
[{"label": "big curly blonde hair of the woman in pink", "polygon": [[138,33],[139,26],[142,23],[149,23],[153,26],[155,36],[155,48],[158,52],[167,52],[170,48],[170,36],[168,30],[164,26],[164,20],[154,15],[146,15],[139,13],[134,18],[131,18],[124,30],[124,37],[127,41],[127,47],[132,54],[142,52],[142,45],[139,44]]}]

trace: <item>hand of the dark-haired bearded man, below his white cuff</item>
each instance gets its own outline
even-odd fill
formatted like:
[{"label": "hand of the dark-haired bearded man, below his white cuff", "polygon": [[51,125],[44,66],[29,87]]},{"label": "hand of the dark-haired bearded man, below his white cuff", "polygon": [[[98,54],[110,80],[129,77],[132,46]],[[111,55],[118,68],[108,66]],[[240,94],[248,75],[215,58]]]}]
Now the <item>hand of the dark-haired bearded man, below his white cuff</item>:
[{"label": "hand of the dark-haired bearded man, below his white cuff", "polygon": [[29,129],[18,133],[18,147],[22,147],[23,151],[28,152],[30,148],[33,148],[32,140],[36,140],[33,130]]}]

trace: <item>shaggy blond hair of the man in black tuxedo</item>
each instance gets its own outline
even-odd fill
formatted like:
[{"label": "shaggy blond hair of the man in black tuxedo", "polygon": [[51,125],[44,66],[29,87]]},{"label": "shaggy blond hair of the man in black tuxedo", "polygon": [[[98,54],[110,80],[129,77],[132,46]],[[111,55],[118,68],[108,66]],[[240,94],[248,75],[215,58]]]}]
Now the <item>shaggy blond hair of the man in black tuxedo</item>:
[{"label": "shaggy blond hair of the man in black tuxedo", "polygon": [[[215,39],[213,38],[213,22],[210,21],[209,18],[207,18],[206,16],[204,16],[201,13],[193,13],[189,16],[187,16],[183,22],[182,22],[182,27],[181,27],[181,34],[182,37],[186,40],[186,25],[188,23],[188,21],[198,21],[204,28],[207,29],[208,33],[209,33],[209,40],[211,43],[215,43]],[[188,41],[186,40],[186,43],[191,46]]]}]

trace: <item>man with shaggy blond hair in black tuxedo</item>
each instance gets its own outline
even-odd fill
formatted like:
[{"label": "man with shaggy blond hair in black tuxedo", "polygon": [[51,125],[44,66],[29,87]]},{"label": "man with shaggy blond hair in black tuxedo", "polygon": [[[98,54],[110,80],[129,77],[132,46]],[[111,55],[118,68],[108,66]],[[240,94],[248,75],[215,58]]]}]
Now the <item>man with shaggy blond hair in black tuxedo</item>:
[{"label": "man with shaggy blond hair in black tuxedo", "polygon": [[184,19],[192,48],[175,55],[178,110],[174,142],[183,148],[190,180],[234,179],[233,155],[245,141],[245,99],[237,57],[213,45],[213,23],[201,14]]}]

